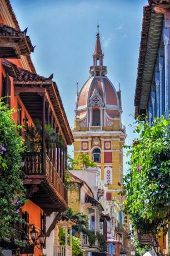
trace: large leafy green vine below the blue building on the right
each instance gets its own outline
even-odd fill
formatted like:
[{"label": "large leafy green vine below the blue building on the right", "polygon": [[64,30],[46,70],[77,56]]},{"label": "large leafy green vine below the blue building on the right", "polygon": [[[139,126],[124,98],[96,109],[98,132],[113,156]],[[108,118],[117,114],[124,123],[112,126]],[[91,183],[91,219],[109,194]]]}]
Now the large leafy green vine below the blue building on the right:
[{"label": "large leafy green vine below the blue building on the right", "polygon": [[169,221],[170,120],[154,119],[152,126],[137,121],[139,137],[127,146],[130,170],[124,178],[125,213],[141,232],[157,232]]}]

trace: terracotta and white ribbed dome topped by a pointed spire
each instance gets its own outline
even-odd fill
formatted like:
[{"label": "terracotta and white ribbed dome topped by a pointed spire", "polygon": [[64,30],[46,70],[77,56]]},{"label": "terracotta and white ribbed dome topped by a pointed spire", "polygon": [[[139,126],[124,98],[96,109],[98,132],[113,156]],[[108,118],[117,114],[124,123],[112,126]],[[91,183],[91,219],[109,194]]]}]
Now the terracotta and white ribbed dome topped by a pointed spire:
[{"label": "terracotta and white ribbed dome topped by a pointed spire", "polygon": [[101,129],[113,126],[114,118],[120,117],[122,112],[121,91],[117,92],[106,76],[99,32],[96,37],[93,66],[89,70],[91,76],[76,93],[76,121],[79,122],[76,126],[89,129],[92,126],[100,126]]}]

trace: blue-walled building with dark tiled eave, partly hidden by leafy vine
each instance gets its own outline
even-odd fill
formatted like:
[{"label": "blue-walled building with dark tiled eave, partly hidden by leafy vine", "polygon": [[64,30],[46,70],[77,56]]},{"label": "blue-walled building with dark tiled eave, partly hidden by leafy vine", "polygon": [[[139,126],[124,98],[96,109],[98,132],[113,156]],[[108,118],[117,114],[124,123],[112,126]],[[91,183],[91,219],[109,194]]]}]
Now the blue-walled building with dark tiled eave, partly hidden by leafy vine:
[{"label": "blue-walled building with dark tiled eave, partly hidden by leafy vine", "polygon": [[[139,49],[136,91],[134,96],[135,117],[148,116],[148,122],[170,110],[170,1],[148,0],[143,7],[141,45]],[[168,255],[170,245],[169,225],[158,239],[160,254]],[[169,234],[169,237],[168,237]],[[157,243],[152,234],[138,232],[142,244]],[[154,255],[155,252],[152,250]]]}]

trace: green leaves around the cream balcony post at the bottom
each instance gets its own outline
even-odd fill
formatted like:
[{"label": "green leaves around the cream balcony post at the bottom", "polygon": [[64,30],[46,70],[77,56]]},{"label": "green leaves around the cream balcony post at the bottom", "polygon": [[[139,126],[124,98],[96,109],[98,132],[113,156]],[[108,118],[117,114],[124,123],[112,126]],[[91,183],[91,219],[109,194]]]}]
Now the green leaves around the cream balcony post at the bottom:
[{"label": "green leaves around the cream balcony post at the bottom", "polygon": [[[65,244],[65,229],[60,228],[58,232],[58,239],[59,239],[59,244],[64,245]],[[67,236],[67,242],[69,243],[69,237],[70,235],[68,234]],[[80,240],[77,237],[72,237],[72,256],[83,256],[82,249],[80,247]]]}]

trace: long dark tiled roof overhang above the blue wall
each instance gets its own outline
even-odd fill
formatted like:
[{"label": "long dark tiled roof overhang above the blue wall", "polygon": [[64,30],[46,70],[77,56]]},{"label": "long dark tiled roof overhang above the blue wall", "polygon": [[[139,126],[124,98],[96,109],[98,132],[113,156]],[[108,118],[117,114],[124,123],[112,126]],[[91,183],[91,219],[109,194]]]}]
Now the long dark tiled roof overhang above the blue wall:
[{"label": "long dark tiled roof overhang above the blue wall", "polygon": [[161,41],[163,15],[153,6],[143,8],[141,44],[139,49],[136,91],[134,96],[135,117],[146,114],[151,83]]}]

